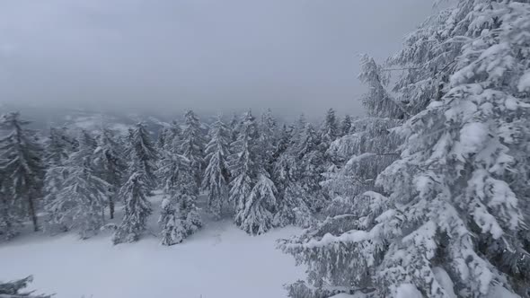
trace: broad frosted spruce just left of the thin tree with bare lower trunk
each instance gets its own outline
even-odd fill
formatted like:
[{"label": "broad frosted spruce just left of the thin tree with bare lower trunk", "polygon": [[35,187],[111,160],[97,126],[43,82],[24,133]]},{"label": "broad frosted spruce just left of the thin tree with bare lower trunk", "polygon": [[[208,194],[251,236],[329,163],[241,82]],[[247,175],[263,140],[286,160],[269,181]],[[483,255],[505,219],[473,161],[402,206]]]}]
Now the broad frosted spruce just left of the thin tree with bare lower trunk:
[{"label": "broad frosted spruce just left of the thin tree with bare lower trunk", "polygon": [[103,211],[110,185],[94,171],[93,137],[82,131],[78,140],[78,150],[70,155],[64,166],[56,167],[57,172],[67,172],[66,179],[54,199],[47,201],[46,210],[51,226],[77,229],[81,238],[86,239],[99,232],[104,223]]}]

